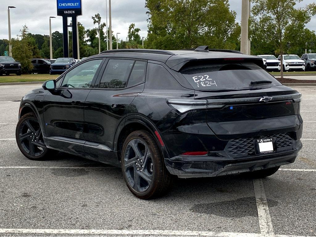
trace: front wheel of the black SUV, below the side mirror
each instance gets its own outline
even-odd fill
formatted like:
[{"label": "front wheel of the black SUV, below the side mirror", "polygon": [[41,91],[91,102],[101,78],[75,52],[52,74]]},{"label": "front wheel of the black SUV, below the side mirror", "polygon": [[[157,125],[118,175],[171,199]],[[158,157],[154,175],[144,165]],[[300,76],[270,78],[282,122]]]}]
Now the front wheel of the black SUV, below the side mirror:
[{"label": "front wheel of the black SUV, below the side mirror", "polygon": [[24,156],[31,160],[43,159],[47,151],[40,123],[33,113],[21,117],[15,130],[16,143]]}]

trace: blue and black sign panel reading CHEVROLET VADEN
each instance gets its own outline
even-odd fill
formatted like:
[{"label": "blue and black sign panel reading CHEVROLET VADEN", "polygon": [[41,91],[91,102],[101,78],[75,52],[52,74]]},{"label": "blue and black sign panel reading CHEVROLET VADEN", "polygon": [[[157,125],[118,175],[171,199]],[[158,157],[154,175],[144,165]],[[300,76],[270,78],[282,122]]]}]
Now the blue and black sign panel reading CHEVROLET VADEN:
[{"label": "blue and black sign panel reading CHEVROLET VADEN", "polygon": [[82,15],[82,0],[57,0],[57,15]]}]

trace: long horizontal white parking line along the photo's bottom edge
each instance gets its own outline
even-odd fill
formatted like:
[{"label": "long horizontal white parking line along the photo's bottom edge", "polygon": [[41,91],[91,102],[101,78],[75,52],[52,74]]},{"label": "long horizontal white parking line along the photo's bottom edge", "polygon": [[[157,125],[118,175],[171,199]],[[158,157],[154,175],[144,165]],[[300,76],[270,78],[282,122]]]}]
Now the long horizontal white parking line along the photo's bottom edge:
[{"label": "long horizontal white parking line along the photo's bottom edge", "polygon": [[254,236],[262,234],[255,233],[232,233],[212,231],[189,231],[189,230],[105,230],[105,229],[0,229],[0,233],[19,234],[97,234],[97,235],[177,235],[177,236]]}]

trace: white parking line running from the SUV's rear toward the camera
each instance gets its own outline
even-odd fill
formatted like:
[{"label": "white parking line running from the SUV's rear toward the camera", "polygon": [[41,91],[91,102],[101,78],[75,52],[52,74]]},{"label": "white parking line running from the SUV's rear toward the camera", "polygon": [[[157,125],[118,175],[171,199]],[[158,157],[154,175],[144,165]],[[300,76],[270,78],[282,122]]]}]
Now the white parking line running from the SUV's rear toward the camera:
[{"label": "white parking line running from the SUV's rear toward the camera", "polygon": [[262,179],[254,179],[253,189],[256,197],[256,204],[258,210],[259,227],[261,235],[263,236],[274,236],[270,211],[268,207],[268,201],[265,197],[264,186]]}]

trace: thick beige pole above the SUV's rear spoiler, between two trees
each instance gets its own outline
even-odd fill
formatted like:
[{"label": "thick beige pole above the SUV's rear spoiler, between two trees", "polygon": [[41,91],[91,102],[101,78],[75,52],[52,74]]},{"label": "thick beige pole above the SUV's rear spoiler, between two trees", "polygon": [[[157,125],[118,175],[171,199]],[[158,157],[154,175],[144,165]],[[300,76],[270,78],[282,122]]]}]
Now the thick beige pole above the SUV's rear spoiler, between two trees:
[{"label": "thick beige pole above the SUV's rear spoiler, between two trees", "polygon": [[249,19],[249,0],[241,0],[241,37],[240,52],[248,53],[248,19]]}]

